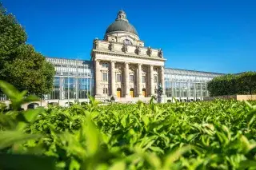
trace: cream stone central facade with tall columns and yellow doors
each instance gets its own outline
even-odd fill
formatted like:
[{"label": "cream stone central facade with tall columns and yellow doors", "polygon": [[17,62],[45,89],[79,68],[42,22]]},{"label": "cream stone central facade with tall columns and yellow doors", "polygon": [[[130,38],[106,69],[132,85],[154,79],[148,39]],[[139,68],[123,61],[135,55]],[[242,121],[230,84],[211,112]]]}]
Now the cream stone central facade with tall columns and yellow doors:
[{"label": "cream stone central facade with tall columns and yellow doors", "polygon": [[159,84],[164,85],[162,49],[145,47],[138,35],[123,29],[106,33],[103,40],[94,39],[95,98],[151,97]]}]

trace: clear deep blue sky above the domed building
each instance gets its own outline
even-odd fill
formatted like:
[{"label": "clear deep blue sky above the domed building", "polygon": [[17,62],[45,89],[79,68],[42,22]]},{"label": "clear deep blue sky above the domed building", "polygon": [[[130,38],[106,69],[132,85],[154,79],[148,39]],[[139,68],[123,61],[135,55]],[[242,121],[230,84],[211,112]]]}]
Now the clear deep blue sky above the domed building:
[{"label": "clear deep blue sky above the domed building", "polygon": [[[0,0],[1,1],[1,0]],[[2,0],[47,57],[90,60],[118,10],[139,37],[162,48],[166,67],[218,73],[256,70],[254,0]]]}]

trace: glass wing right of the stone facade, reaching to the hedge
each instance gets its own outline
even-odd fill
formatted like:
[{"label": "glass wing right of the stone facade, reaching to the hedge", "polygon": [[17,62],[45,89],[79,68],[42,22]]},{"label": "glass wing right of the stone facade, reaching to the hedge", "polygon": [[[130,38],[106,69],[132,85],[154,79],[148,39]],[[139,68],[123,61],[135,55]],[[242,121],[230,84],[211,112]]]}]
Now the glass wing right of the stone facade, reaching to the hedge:
[{"label": "glass wing right of the stone facade, reaching to the hedge", "polygon": [[221,73],[200,72],[186,69],[165,69],[166,97],[179,101],[202,101],[209,97],[207,82]]}]

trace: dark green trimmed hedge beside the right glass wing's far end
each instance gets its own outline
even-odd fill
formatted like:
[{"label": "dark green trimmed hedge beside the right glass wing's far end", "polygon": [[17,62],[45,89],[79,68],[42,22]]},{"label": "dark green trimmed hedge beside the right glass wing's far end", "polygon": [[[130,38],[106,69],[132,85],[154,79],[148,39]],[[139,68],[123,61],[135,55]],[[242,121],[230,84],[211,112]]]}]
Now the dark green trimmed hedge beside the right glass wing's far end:
[{"label": "dark green trimmed hedge beside the right glass wing's far end", "polygon": [[208,82],[210,96],[256,94],[256,72],[226,74]]}]

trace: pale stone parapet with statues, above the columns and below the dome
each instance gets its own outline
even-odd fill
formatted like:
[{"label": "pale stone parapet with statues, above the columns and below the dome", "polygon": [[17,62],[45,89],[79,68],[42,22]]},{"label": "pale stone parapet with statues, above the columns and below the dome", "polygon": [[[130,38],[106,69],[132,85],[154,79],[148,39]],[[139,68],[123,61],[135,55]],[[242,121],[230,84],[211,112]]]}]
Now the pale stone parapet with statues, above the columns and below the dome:
[{"label": "pale stone parapet with statues, above the columns and below the dome", "polygon": [[119,42],[108,42],[103,40],[94,40],[94,49],[110,51],[115,53],[126,53],[138,56],[163,58],[162,49],[152,49],[138,45],[124,45]]}]

